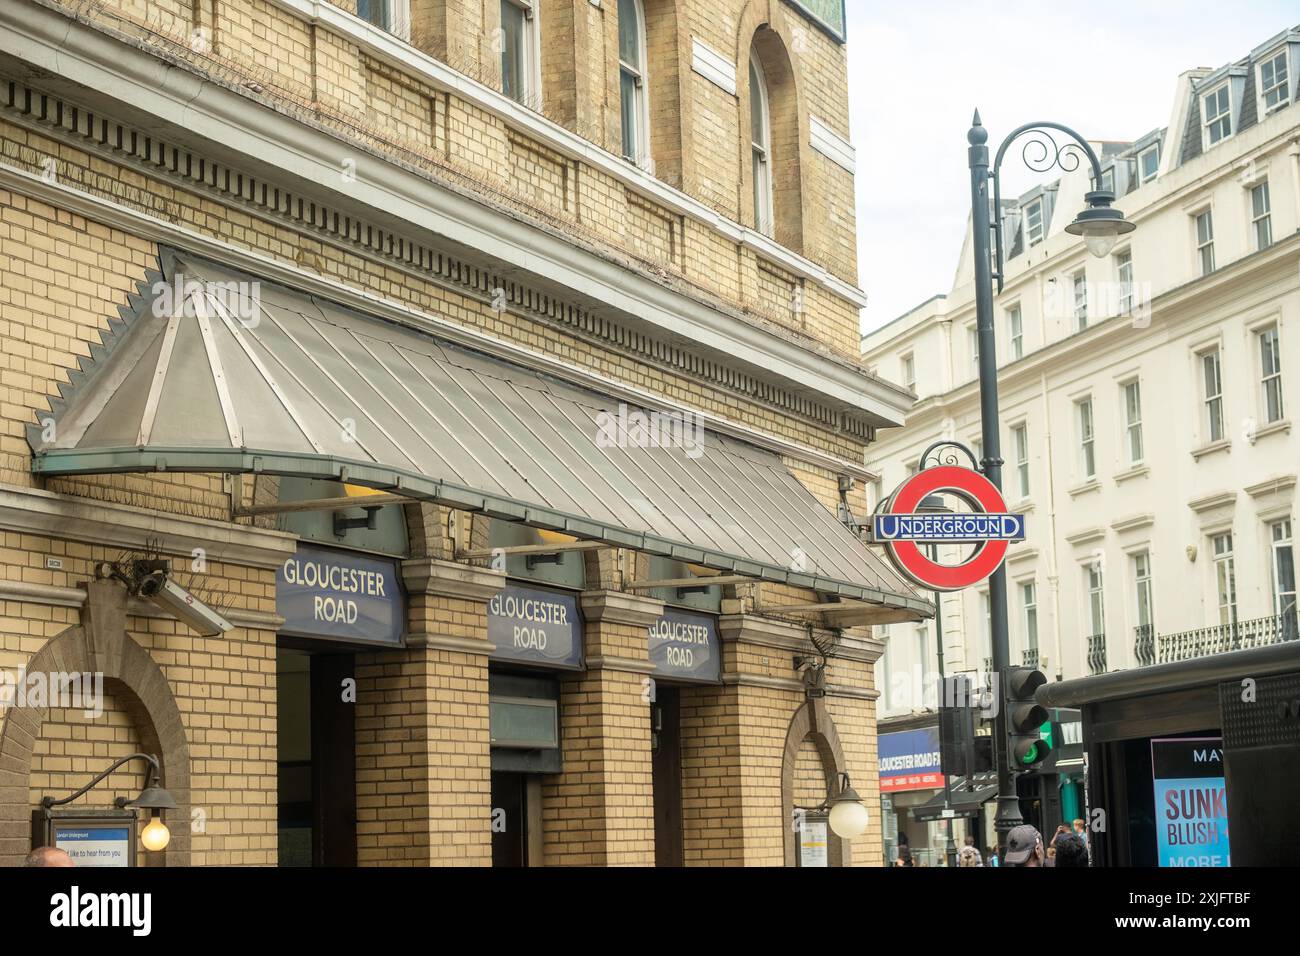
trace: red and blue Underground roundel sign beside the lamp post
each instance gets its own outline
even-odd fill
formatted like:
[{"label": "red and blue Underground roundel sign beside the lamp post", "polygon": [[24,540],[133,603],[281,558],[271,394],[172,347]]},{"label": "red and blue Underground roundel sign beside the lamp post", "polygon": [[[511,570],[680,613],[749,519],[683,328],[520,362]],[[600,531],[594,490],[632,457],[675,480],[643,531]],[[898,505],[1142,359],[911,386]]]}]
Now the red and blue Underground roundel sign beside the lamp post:
[{"label": "red and blue Underground roundel sign beside the lamp post", "polygon": [[[918,514],[931,494],[952,494],[970,512]],[[1024,515],[1006,510],[1001,492],[971,468],[954,464],[926,468],[904,481],[875,514],[872,536],[909,580],[931,591],[961,591],[993,574],[1011,541],[1024,540]],[[920,545],[974,544],[959,564],[931,561]]]}]

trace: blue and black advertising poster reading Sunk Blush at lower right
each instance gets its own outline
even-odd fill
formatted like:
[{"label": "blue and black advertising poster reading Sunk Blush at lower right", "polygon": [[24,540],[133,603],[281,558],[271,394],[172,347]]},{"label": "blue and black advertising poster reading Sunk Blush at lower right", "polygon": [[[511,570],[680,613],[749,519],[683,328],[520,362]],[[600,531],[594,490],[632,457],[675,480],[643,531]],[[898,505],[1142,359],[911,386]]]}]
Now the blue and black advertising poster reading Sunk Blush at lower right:
[{"label": "blue and black advertising poster reading Sunk Blush at lower right", "polygon": [[1223,737],[1150,741],[1160,866],[1231,866]]}]

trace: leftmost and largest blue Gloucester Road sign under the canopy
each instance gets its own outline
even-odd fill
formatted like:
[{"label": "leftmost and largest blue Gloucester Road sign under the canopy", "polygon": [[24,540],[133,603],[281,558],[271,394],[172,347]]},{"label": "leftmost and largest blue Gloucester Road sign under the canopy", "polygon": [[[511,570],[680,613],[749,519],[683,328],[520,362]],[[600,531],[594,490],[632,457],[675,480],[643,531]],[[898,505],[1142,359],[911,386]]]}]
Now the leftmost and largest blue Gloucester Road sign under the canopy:
[{"label": "leftmost and largest blue Gloucester Road sign under the canopy", "polygon": [[406,598],[395,561],[299,545],[276,571],[281,633],[402,646]]}]

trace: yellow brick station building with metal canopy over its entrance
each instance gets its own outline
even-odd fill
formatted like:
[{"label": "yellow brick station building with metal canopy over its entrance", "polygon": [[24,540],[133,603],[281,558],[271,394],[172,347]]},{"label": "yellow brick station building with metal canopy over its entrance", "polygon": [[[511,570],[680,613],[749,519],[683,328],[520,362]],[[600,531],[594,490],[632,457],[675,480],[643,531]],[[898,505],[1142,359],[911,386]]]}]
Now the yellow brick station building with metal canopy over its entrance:
[{"label": "yellow brick station building with metal canopy over its entrance", "polygon": [[0,862],[881,860],[836,4],[8,3],[0,204]]}]

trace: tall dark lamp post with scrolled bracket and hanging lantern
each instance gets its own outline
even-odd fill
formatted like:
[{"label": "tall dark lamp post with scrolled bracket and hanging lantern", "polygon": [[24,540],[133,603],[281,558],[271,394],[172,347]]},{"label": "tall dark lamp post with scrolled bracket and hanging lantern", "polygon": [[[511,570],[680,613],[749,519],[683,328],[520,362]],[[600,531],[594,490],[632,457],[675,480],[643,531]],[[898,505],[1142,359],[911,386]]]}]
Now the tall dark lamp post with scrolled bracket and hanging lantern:
[{"label": "tall dark lamp post with scrolled bracket and hanging lantern", "polygon": [[[998,173],[1008,147],[1026,133],[1034,133],[1022,150],[1024,164],[1036,172],[1060,166],[1063,172],[1079,168],[1080,153],[1092,164],[1092,191],[1084,195],[1087,208],[1066,226],[1071,235],[1082,235],[1092,255],[1110,254],[1118,238],[1135,226],[1123,213],[1112,207],[1114,193],[1101,189],[1101,161],[1087,140],[1069,126],[1056,122],[1031,122],[1013,130],[997,150],[992,170],[988,163],[988,131],[980,124],[979,111],[971,121],[966,139],[970,143],[971,170],[971,226],[975,255],[975,316],[979,336],[979,388],[980,425],[984,442],[982,471],[1000,490],[1002,488],[1002,447],[998,437],[997,410],[997,341],[993,334],[993,280],[1002,291],[1002,186]],[[1072,142],[1057,146],[1053,133],[1062,133]],[[1031,153],[1031,150],[1035,152]],[[1037,152],[1041,151],[1041,156]],[[989,181],[993,183],[992,202]],[[997,259],[993,260],[989,241],[996,241]],[[992,627],[993,670],[998,675],[1010,666],[1010,645],[1006,626],[1006,571],[998,567],[989,578],[989,623]],[[1001,689],[1001,688],[1000,688]],[[1000,695],[1001,700],[1001,695]],[[993,724],[993,749],[997,763],[997,829],[998,848],[1006,842],[1006,832],[1022,822],[1019,800],[1015,795],[1015,775],[1006,754],[1006,714],[998,706]]]}]

